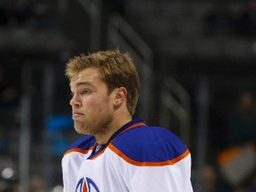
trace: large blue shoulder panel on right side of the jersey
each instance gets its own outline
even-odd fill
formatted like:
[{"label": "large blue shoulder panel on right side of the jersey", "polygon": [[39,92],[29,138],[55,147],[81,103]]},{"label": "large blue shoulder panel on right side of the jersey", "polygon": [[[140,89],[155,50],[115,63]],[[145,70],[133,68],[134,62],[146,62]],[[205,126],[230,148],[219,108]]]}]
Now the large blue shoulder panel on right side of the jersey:
[{"label": "large blue shoulder panel on right side of the jersey", "polygon": [[138,162],[164,162],[183,154],[187,147],[172,132],[161,127],[140,126],[119,135],[112,144]]}]

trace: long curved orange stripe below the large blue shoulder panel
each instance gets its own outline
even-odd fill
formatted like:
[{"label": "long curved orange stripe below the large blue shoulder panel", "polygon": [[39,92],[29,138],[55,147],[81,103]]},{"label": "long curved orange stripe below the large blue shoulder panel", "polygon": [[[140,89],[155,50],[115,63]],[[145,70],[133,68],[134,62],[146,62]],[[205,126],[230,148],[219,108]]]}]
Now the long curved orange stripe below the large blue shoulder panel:
[{"label": "long curved orange stripe below the large blue shoulder panel", "polygon": [[124,153],[122,153],[118,148],[116,148],[112,144],[110,144],[108,146],[108,148],[110,148],[114,153],[116,153],[117,156],[120,156],[121,158],[123,158],[124,161],[128,162],[129,164],[134,164],[136,166],[164,166],[164,165],[172,165],[172,164],[176,164],[181,159],[183,159],[186,156],[188,156],[188,154],[190,153],[188,148],[187,148],[187,150],[183,154],[181,154],[180,156],[177,156],[176,158],[174,158],[172,160],[168,160],[168,161],[164,161],[164,162],[138,162],[138,161],[135,161],[135,160],[129,158],[128,156],[125,156]]}]

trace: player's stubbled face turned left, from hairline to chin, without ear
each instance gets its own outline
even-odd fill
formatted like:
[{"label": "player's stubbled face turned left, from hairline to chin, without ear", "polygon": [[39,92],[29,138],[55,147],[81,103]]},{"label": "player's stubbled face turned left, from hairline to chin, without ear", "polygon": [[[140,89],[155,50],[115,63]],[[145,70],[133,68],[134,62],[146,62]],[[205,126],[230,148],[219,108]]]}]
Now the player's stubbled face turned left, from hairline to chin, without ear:
[{"label": "player's stubbled face turned left, from hairline to chin, without ear", "polygon": [[70,100],[76,132],[98,135],[108,131],[112,122],[113,100],[98,68],[85,68],[70,81]]}]

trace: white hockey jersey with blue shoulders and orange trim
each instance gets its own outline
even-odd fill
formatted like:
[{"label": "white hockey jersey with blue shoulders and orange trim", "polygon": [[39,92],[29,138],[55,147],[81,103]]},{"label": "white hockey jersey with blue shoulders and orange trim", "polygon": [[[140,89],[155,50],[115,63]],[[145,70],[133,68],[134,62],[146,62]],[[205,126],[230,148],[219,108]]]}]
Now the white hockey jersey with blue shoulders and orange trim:
[{"label": "white hockey jersey with blue shoulders and orange trim", "polygon": [[191,156],[172,132],[136,119],[104,146],[84,136],[62,159],[63,192],[191,192]]}]

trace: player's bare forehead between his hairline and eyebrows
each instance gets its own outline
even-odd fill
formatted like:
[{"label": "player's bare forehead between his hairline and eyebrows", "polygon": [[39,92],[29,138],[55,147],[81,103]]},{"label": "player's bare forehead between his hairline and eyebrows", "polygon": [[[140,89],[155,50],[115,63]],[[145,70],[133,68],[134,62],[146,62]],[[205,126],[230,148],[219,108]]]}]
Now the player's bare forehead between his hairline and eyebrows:
[{"label": "player's bare forehead between his hairline and eyebrows", "polygon": [[104,84],[100,70],[98,68],[84,68],[70,80],[70,87],[76,87],[80,84]]}]

